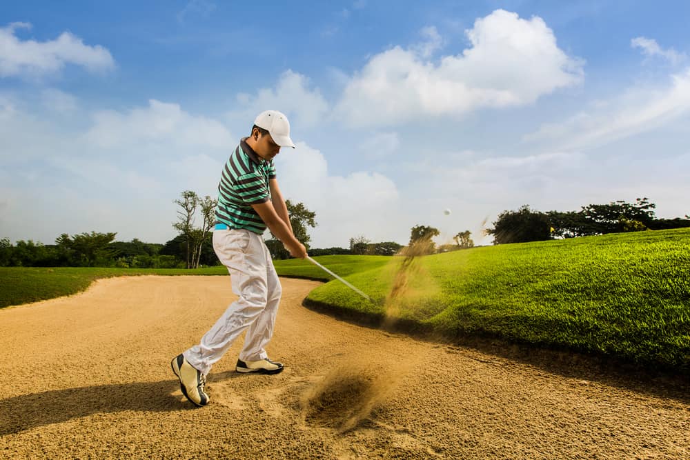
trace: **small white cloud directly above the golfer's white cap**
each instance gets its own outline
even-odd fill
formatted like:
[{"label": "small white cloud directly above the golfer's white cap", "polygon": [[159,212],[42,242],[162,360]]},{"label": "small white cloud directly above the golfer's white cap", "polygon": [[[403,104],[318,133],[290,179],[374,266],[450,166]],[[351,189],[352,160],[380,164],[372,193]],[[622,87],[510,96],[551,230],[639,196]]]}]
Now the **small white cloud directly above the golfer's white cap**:
[{"label": "small white cloud directly above the golfer's white cap", "polygon": [[264,110],[284,112],[295,126],[316,126],[328,110],[328,103],[318,88],[310,89],[307,77],[292,70],[280,75],[275,88],[262,88],[256,95],[238,94],[239,110],[233,110],[228,117],[245,125],[253,121]]}]

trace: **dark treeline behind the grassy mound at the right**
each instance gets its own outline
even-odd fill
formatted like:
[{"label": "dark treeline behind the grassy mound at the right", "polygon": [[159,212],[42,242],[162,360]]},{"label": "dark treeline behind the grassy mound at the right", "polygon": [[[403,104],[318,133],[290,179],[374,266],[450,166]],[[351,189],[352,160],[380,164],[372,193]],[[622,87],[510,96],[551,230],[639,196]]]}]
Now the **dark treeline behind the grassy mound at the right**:
[{"label": "dark treeline behind the grassy mound at the right", "polygon": [[590,204],[569,212],[540,212],[524,205],[499,214],[494,228],[487,229],[486,234],[493,234],[494,244],[504,244],[690,227],[689,216],[657,219],[655,208],[646,197],[636,199],[635,203],[619,200]]}]

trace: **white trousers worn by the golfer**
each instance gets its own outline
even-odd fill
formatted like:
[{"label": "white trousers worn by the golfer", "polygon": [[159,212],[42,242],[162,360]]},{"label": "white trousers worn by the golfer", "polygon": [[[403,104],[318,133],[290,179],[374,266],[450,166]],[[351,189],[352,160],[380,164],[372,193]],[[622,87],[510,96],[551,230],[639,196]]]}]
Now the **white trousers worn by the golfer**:
[{"label": "white trousers worn by the golfer", "polygon": [[184,352],[203,374],[223,357],[233,341],[247,330],[242,361],[267,358],[266,344],[273,335],[282,288],[264,239],[249,230],[216,230],[213,249],[228,268],[233,292],[239,296],[216,321],[199,345]]}]

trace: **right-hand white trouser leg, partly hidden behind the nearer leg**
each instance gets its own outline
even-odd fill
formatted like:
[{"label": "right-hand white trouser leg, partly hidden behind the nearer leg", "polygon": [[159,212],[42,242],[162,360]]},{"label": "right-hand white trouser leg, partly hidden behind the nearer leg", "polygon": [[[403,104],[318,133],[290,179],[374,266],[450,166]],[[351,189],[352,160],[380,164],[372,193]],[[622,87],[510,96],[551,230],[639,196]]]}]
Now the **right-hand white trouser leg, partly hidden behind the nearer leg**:
[{"label": "right-hand white trouser leg, partly hidden behind the nearer leg", "polygon": [[278,274],[275,272],[275,268],[273,268],[273,259],[270,257],[270,252],[263,240],[262,246],[266,254],[266,288],[268,289],[266,308],[247,330],[244,348],[239,353],[239,359],[242,359],[242,361],[259,361],[259,359],[268,357],[266,345],[273,337],[275,317],[278,312],[278,304],[280,303],[280,294],[282,293]]}]

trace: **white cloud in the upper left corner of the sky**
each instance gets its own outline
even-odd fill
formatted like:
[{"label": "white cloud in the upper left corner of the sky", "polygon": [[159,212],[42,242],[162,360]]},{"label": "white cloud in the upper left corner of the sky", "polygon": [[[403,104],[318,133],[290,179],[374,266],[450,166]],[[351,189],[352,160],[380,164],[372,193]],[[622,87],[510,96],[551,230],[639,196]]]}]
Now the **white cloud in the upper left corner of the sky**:
[{"label": "white cloud in the upper left corner of the sky", "polygon": [[0,28],[0,77],[43,77],[59,72],[67,64],[83,66],[89,72],[115,68],[110,52],[102,46],[84,45],[79,37],[63,32],[55,40],[21,40],[17,29],[28,23],[11,23]]}]

